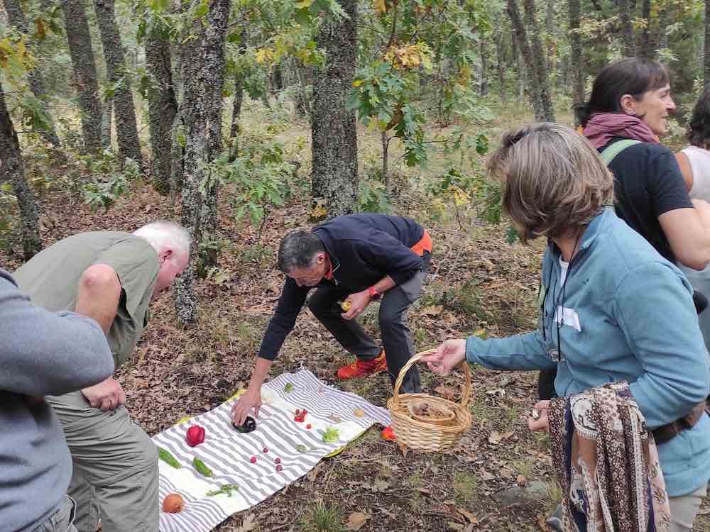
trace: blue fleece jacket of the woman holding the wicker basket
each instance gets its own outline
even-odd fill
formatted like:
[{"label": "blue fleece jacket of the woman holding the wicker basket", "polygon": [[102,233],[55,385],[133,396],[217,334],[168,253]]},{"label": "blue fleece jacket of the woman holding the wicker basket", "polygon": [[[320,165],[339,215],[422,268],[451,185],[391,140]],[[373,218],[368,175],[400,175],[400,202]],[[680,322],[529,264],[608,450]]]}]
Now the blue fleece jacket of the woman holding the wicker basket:
[{"label": "blue fleece jacket of the woman holding the wicker basket", "polygon": [[[559,249],[542,263],[540,323],[532,333],[466,340],[466,360],[493,370],[557,366],[559,397],[626,380],[649,428],[674,421],[709,393],[709,357],[682,273],[606,208],[584,231],[560,289]],[[555,304],[557,303],[557,304]],[[562,307],[557,316],[553,309]],[[555,353],[561,353],[559,362]],[[710,479],[710,418],[658,446],[667,492]]]}]

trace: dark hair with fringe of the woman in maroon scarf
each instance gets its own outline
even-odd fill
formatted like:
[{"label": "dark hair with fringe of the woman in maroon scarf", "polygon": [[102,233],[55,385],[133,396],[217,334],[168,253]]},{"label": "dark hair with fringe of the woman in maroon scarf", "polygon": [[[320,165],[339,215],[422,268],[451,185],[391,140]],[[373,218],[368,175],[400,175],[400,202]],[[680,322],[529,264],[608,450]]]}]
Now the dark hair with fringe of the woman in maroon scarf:
[{"label": "dark hair with fringe of the woman in maroon scarf", "polygon": [[660,62],[629,57],[606,65],[594,79],[586,104],[577,104],[574,114],[582,126],[594,113],[621,113],[621,96],[640,99],[643,93],[670,84],[670,72]]}]

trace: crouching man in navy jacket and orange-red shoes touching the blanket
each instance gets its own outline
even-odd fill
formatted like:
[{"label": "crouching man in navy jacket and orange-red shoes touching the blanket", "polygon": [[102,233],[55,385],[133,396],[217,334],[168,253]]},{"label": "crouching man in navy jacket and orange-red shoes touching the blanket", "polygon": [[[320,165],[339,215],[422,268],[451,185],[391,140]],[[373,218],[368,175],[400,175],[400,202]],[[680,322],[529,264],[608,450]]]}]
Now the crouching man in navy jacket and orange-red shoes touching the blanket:
[{"label": "crouching man in navy jacket and orange-red shoes touching the blanket", "polygon": [[[283,292],[261,342],[249,388],[232,409],[240,425],[261,407],[261,384],[308,292],[316,288],[308,308],[356,362],[338,370],[340,379],[364,377],[387,370],[392,382],[414,355],[406,323],[407,311],[422,291],[432,240],[415,221],[384,214],[350,214],[322,223],[312,231],[293,231],[281,241],[278,267],[286,275]],[[381,299],[380,347],[354,320],[368,304]],[[349,301],[344,311],[339,301]],[[419,372],[412,367],[400,387],[420,391]],[[391,428],[383,438],[394,439]]]}]

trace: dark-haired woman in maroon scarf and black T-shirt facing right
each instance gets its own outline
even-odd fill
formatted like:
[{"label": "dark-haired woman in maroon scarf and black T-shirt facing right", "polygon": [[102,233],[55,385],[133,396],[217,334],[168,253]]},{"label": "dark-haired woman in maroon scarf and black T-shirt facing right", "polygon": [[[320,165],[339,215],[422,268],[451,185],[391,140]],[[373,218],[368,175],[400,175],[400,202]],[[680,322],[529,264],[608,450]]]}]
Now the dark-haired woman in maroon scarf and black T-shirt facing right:
[{"label": "dark-haired woman in maroon scarf and black T-shirt facing right", "polygon": [[[602,157],[618,150],[607,166],[619,218],[670,262],[702,270],[710,262],[710,204],[689,198],[672,151],[660,143],[673,111],[668,71],[640,57],[604,67],[589,101],[575,107],[584,136]],[[636,143],[617,144],[626,139]],[[554,372],[540,374],[541,399],[552,396],[554,381]]]}]

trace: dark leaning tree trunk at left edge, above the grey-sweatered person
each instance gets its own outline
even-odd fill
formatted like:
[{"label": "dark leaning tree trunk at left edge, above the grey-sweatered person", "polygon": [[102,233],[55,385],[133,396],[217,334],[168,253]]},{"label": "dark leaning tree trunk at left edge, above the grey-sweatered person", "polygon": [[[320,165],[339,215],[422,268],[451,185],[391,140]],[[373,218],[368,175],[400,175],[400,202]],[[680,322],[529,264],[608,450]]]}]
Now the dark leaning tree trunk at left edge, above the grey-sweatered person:
[{"label": "dark leaning tree trunk at left edge, above the grey-sweatered person", "polygon": [[25,260],[30,260],[42,249],[39,214],[35,196],[25,179],[25,165],[22,160],[20,143],[12,125],[12,118],[5,104],[5,93],[0,85],[0,184],[9,182],[20,209],[22,221],[22,247]]}]

